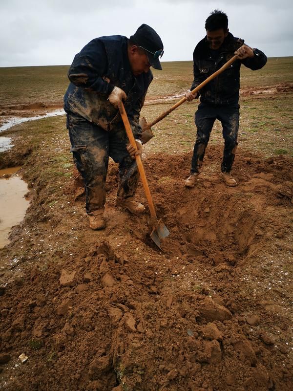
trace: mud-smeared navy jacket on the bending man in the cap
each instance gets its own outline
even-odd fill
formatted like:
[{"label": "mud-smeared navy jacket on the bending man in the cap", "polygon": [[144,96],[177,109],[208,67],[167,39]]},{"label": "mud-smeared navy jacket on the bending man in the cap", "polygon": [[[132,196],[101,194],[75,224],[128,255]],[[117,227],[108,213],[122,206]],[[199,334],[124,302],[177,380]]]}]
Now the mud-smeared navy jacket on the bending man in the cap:
[{"label": "mud-smeared navy jacket on the bending man in the cap", "polygon": [[127,41],[114,35],[96,38],[84,46],[68,71],[71,83],[64,95],[64,109],[104,130],[123,126],[119,110],[107,100],[114,86],[120,87],[127,95],[124,105],[133,134],[140,138],[140,110],[153,75],[151,71],[137,77],[132,74]]}]

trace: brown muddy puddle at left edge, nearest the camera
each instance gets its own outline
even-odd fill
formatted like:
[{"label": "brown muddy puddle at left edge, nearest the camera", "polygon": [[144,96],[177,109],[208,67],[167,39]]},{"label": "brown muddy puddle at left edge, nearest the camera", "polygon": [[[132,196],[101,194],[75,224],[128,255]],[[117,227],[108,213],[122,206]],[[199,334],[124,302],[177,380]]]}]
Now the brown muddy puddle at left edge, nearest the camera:
[{"label": "brown muddy puddle at left edge, nearest the camera", "polygon": [[15,174],[19,169],[0,170],[0,248],[9,243],[11,227],[21,222],[29,205],[27,184]]}]

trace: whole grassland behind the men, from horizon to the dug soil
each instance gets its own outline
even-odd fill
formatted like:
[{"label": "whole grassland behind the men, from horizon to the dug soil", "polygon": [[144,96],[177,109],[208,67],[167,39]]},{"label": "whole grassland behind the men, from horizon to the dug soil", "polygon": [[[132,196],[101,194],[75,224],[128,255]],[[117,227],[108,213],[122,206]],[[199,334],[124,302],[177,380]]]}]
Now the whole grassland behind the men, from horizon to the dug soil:
[{"label": "whole grassland behind the men, from horizon to the dug soil", "polygon": [[[42,102],[62,104],[67,87],[68,66],[34,66],[0,68],[0,106]],[[271,58],[267,65],[258,71],[241,68],[242,88],[259,88],[293,82],[293,57]],[[192,80],[191,62],[163,63],[163,71],[154,70],[154,81],[150,85],[147,100],[183,93]],[[293,108],[292,92],[241,96],[241,117],[239,147],[263,153],[293,155]],[[156,118],[173,103],[146,104],[142,114],[148,122]],[[193,148],[195,140],[194,112],[198,102],[185,103],[167,118],[153,127],[155,138],[145,147],[146,152],[187,152]],[[62,127],[63,119],[38,121],[40,132],[47,132],[48,123]],[[42,128],[42,124],[46,124]],[[21,130],[30,132],[30,123],[14,127],[13,133]],[[56,128],[55,128],[56,129]],[[56,130],[55,130],[56,131]],[[4,133],[1,133],[4,135]],[[221,124],[216,121],[210,143],[222,143]]]}]

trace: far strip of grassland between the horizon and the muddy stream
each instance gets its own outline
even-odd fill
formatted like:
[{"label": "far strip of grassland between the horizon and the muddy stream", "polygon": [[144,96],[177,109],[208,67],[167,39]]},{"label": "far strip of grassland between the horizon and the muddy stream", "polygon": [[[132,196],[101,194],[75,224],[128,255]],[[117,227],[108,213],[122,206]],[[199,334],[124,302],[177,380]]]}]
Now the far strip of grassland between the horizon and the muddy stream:
[{"label": "far strip of grassland between the horizon and the muddy stream", "polygon": [[[162,63],[153,70],[148,98],[183,93],[192,83],[192,62]],[[68,85],[69,65],[0,68],[0,106],[27,102],[62,103]],[[293,57],[275,57],[257,71],[241,68],[241,87],[272,86],[293,82]]]}]

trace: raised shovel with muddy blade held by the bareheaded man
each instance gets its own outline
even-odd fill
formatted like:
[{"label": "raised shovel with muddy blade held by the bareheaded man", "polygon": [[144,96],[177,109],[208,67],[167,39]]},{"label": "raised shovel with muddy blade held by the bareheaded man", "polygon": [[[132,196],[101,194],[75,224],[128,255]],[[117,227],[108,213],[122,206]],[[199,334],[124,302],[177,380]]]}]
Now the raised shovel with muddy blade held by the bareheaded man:
[{"label": "raised shovel with muddy blade held by the bareheaded man", "polygon": [[[222,73],[225,69],[227,69],[231,64],[233,64],[233,62],[235,60],[238,59],[238,56],[233,56],[229,61],[227,61],[226,64],[224,64],[220,69],[218,69],[216,72],[214,72],[212,75],[210,75],[206,80],[204,80],[201,84],[199,84],[197,87],[195,87],[191,92],[193,94],[195,94],[196,92],[198,92],[202,87],[204,87],[206,84],[208,84],[212,79],[214,79],[215,77],[217,77],[220,73]],[[154,135],[152,133],[152,130],[150,129],[153,125],[157,124],[159,121],[161,121],[163,118],[167,117],[168,114],[170,114],[171,111],[177,109],[177,107],[179,107],[180,105],[182,105],[182,103],[184,103],[186,101],[186,97],[183,97],[182,99],[180,99],[179,102],[175,103],[175,105],[173,105],[172,107],[170,107],[170,109],[166,110],[165,112],[163,112],[163,114],[161,114],[158,118],[156,118],[155,120],[153,120],[151,123],[147,124],[146,123],[146,120],[142,120],[144,122],[140,122],[140,125],[142,126],[143,128],[143,136],[142,136],[142,139],[143,139],[143,142],[144,144],[150,140]]]}]

